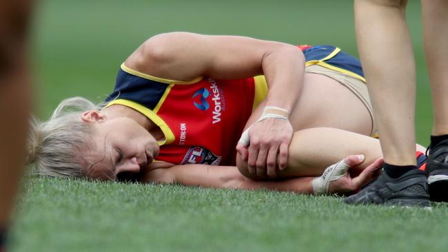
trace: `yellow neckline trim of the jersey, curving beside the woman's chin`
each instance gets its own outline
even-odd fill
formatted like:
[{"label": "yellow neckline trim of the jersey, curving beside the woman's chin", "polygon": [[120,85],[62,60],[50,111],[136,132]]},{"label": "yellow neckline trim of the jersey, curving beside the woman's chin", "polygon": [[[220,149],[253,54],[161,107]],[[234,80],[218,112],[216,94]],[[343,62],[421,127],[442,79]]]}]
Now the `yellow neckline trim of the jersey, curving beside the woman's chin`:
[{"label": "yellow neckline trim of the jersey, curving beside the woman's chin", "polygon": [[116,99],[114,101],[111,101],[106,105],[105,107],[110,107],[112,105],[123,105],[126,107],[130,107],[132,109],[135,109],[136,111],[140,112],[141,114],[144,114],[147,116],[147,118],[150,118],[152,122],[154,122],[157,126],[160,127],[160,129],[163,132],[163,135],[165,135],[165,140],[157,141],[159,145],[169,145],[170,143],[174,142],[174,134],[171,131],[170,127],[165,123],[165,121],[156,115],[151,109],[148,109],[147,107],[140,105],[139,103],[134,103],[133,101],[125,100],[125,99]]}]

